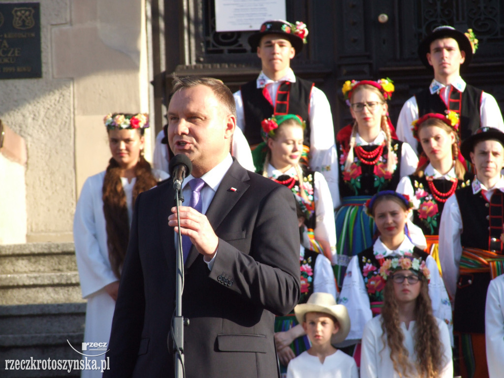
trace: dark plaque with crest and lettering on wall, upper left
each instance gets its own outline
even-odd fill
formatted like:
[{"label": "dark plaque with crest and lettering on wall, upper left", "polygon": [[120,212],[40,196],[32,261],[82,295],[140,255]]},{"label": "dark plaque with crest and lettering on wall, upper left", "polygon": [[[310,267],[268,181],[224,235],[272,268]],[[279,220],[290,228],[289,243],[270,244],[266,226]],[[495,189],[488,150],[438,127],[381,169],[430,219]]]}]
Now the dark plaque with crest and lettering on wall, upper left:
[{"label": "dark plaque with crest and lettering on wall, upper left", "polygon": [[41,77],[40,4],[0,4],[0,79]]}]

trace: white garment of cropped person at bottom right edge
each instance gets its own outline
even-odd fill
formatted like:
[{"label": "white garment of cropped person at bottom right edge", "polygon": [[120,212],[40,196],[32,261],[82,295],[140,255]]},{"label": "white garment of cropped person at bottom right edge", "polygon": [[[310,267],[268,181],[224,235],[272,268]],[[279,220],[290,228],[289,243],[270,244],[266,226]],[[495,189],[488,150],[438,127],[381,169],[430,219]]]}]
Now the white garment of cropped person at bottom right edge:
[{"label": "white garment of cropped person at bottom right edge", "polygon": [[504,274],[488,285],[485,306],[486,361],[490,378],[504,372]]}]

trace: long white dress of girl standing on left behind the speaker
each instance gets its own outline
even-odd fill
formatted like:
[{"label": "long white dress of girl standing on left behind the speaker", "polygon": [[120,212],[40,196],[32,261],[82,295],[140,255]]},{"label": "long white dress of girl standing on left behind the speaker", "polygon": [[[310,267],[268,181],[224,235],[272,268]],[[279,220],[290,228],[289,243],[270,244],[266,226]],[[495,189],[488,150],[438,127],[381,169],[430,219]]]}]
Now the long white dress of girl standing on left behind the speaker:
[{"label": "long white dress of girl standing on left behind the speaker", "polygon": [[[168,175],[162,171],[153,171],[157,178]],[[74,217],[74,242],[81,282],[82,297],[87,299],[86,328],[84,342],[108,343],[115,301],[107,294],[104,287],[117,281],[108,259],[107,231],[103,215],[102,187],[105,171],[88,177],[82,187]],[[121,177],[122,187],[128,204],[128,215],[131,221],[133,212],[133,187],[136,178],[131,182]],[[80,350],[80,348],[78,349]],[[84,351],[85,354],[101,352]],[[105,355],[94,357],[98,366]],[[88,360],[93,357],[88,357]],[[100,370],[82,370],[81,377],[101,377]]]}]

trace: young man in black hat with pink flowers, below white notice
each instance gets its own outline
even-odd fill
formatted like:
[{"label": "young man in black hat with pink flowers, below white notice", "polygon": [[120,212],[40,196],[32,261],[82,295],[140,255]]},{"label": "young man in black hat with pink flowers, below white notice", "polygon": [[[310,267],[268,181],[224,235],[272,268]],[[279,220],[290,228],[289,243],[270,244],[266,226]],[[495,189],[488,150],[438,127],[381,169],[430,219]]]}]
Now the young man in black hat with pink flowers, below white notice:
[{"label": "young man in black hat with pink flowers, below white notice", "polygon": [[248,38],[252,51],[257,51],[261,59],[262,71],[234,94],[237,126],[254,147],[263,141],[263,119],[273,114],[301,116],[306,121],[304,145],[310,149],[309,165],[324,174],[334,199],[338,167],[329,101],[314,83],[295,76],[290,68],[291,59],[302,50],[307,35],[302,22],[272,20]]}]

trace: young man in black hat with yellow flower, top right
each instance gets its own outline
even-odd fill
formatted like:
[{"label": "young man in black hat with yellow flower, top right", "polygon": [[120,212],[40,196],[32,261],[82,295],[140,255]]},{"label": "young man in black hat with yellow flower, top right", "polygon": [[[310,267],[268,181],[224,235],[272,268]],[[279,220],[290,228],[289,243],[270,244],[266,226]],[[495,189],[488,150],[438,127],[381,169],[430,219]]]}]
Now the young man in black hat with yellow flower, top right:
[{"label": "young man in black hat with yellow flower, top right", "polygon": [[462,79],[460,69],[469,66],[478,40],[471,29],[462,33],[451,26],[439,26],[418,46],[418,56],[434,79],[428,88],[405,102],[397,121],[397,136],[421,152],[413,137],[411,122],[427,113],[453,110],[460,117],[461,140],[479,127],[492,126],[504,131],[500,109],[493,96]]}]

